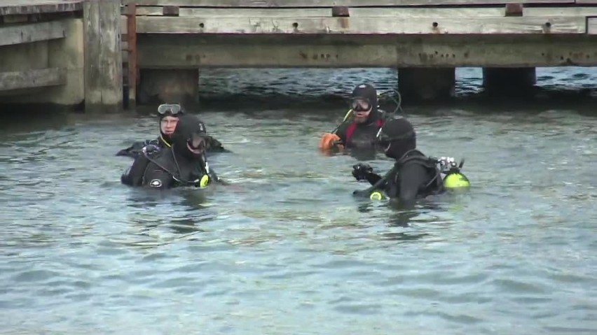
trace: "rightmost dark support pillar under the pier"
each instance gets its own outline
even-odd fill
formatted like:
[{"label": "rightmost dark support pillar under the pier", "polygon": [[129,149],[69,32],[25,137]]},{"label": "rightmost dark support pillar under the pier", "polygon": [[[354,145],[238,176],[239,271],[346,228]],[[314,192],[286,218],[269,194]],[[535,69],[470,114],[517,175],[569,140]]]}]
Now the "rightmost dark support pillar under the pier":
[{"label": "rightmost dark support pillar under the pier", "polygon": [[534,67],[483,68],[483,87],[489,94],[525,94],[536,83]]}]

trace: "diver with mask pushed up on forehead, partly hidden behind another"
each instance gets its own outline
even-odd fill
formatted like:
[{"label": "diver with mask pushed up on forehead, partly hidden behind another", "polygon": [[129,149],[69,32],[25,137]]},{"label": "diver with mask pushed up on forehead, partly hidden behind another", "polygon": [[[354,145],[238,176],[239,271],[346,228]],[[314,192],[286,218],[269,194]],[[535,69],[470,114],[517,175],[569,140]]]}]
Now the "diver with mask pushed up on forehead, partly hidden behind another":
[{"label": "diver with mask pushed up on forehead, partly hidden behind another", "polygon": [[[116,156],[128,156],[136,158],[146,145],[153,145],[158,148],[170,148],[172,132],[176,127],[179,116],[184,114],[179,104],[162,104],[158,106],[158,117],[160,118],[160,136],[153,140],[138,141],[126,149],[120,150]],[[220,141],[212,136],[207,136],[207,152],[228,152]]]}]

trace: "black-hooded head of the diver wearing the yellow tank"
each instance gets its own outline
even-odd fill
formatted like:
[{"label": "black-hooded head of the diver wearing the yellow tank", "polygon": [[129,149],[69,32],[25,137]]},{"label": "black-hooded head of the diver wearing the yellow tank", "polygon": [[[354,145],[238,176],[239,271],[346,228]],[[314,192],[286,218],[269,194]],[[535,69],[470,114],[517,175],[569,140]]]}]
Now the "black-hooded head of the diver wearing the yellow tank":
[{"label": "black-hooded head of the diver wearing the yellow tank", "polygon": [[400,159],[407,151],[417,148],[415,129],[404,117],[385,122],[377,133],[377,141],[385,155],[393,159]]}]

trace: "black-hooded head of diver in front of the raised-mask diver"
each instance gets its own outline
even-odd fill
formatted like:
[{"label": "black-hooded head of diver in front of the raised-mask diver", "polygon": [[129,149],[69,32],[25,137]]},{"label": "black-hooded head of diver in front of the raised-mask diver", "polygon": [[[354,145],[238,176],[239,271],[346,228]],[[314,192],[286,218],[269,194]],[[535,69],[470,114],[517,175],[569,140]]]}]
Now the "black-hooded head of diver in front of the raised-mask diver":
[{"label": "black-hooded head of diver in front of the raised-mask diver", "polygon": [[205,124],[195,115],[179,115],[179,120],[172,134],[174,151],[191,159],[203,157],[207,148],[207,130]]}]

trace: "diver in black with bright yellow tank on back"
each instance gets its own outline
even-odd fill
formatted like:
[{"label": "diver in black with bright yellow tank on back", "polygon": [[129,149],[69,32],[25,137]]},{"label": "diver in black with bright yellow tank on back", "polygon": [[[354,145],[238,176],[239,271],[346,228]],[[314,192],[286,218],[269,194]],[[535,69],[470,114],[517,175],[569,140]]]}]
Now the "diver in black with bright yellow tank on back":
[{"label": "diver in black with bright yellow tank on back", "polygon": [[[439,160],[427,157],[416,149],[416,132],[411,122],[404,118],[388,120],[379,130],[378,143],[387,157],[396,159],[392,169],[382,178],[368,164],[352,166],[352,176],[357,180],[367,180],[371,187],[363,191],[355,191],[357,196],[377,197],[380,191],[390,199],[399,199],[404,207],[412,207],[419,198],[431,194],[439,194],[446,188],[468,187],[467,178],[460,173],[460,167],[452,165],[446,174],[450,183],[444,183],[442,171],[438,167]],[[445,163],[445,160],[442,161]],[[450,163],[450,162],[448,162]]]}]

